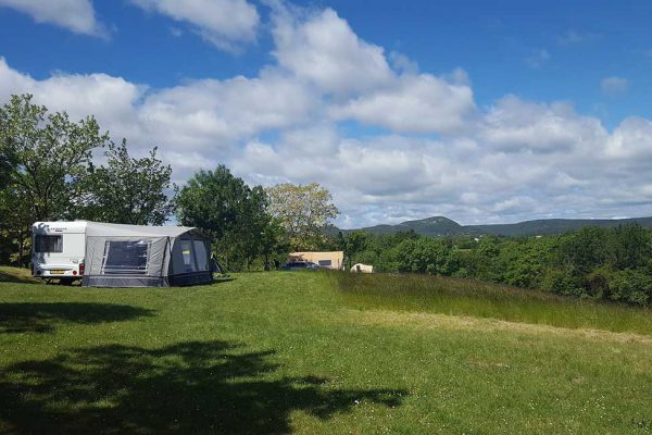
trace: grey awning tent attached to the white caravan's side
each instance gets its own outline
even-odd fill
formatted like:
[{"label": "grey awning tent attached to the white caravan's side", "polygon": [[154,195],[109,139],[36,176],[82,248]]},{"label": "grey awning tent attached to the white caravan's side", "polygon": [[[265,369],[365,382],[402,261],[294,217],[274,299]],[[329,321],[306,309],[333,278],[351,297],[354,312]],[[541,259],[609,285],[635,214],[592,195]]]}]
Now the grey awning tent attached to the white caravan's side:
[{"label": "grey awning tent attached to the white caravan's side", "polygon": [[211,240],[187,226],[88,222],[85,287],[167,287],[209,283]]}]

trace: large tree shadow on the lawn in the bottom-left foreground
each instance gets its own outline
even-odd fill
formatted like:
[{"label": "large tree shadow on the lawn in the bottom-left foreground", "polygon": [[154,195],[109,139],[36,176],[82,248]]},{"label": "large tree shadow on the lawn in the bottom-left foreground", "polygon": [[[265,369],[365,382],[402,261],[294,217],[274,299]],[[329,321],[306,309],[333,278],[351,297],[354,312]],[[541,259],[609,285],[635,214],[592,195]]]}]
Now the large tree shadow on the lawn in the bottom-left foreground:
[{"label": "large tree shadow on the lawn in the bottom-left foreground", "polygon": [[396,407],[405,394],[269,378],[273,353],[225,341],[75,349],[4,370],[0,419],[20,434],[287,434],[293,411],[327,420],[359,402]]}]

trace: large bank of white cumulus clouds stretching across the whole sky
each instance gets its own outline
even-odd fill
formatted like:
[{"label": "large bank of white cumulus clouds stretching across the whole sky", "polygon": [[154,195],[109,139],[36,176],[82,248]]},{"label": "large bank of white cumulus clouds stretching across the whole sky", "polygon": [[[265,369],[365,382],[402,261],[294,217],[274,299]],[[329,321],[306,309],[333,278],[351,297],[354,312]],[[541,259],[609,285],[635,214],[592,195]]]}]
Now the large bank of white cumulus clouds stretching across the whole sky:
[{"label": "large bank of white cumulus clouds stretching across the whole sky", "polygon": [[35,79],[0,59],[0,100],[32,92],[93,113],[135,151],[160,146],[176,182],[217,163],[249,183],[318,182],[348,227],[652,213],[651,120],[610,130],[570,102],[517,96],[478,108],[463,70],[390,61],[329,9],[274,8],[274,59],[255,76],[155,89],[101,73]]}]

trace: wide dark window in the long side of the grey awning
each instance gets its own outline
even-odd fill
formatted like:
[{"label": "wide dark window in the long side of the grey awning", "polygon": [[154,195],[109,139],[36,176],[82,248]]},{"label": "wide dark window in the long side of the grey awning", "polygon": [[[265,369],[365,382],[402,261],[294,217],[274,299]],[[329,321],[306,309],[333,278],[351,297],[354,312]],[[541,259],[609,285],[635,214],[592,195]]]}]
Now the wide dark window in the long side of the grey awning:
[{"label": "wide dark window in the long side of the grey awning", "polygon": [[147,275],[150,245],[147,240],[106,240],[102,273],[105,275]]}]

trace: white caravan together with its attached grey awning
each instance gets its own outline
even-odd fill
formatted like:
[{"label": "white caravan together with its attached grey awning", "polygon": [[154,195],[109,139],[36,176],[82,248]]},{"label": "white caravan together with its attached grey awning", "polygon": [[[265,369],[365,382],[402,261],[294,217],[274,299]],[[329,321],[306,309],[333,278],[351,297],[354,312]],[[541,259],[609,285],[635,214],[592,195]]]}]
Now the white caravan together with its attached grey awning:
[{"label": "white caravan together with its attached grey awning", "polygon": [[37,222],[33,274],[85,287],[167,287],[213,281],[211,240],[198,228]]}]

